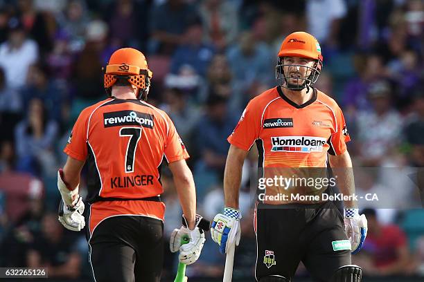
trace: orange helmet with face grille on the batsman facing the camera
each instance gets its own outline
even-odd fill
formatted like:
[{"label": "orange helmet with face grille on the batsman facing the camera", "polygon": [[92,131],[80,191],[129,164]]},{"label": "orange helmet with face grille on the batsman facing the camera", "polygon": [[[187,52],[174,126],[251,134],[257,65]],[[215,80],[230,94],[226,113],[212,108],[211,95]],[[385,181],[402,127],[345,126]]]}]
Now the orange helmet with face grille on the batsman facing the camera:
[{"label": "orange helmet with face grille on the batsman facing the camera", "polygon": [[[283,67],[289,65],[283,64],[284,57],[304,57],[315,60],[315,64],[312,67],[303,66],[310,68],[310,75],[308,75],[308,77],[299,78],[303,80],[302,84],[298,84],[297,86],[288,85],[288,77],[285,76]],[[276,65],[276,79],[279,81],[281,86],[296,91],[311,86],[317,82],[319,74],[321,73],[323,59],[324,58],[321,55],[321,46],[319,46],[319,42],[315,37],[303,31],[293,32],[285,37],[283,43],[281,44],[281,48],[279,50],[279,60]]]}]

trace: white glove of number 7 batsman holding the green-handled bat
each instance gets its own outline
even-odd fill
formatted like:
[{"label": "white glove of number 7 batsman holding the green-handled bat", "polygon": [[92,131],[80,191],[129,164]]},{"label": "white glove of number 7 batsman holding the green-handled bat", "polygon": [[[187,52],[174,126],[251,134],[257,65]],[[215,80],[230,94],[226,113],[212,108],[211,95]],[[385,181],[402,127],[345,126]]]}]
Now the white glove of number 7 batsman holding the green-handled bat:
[{"label": "white glove of number 7 batsman holding the green-handled bat", "polygon": [[[171,252],[179,251],[179,262],[185,265],[191,265],[199,259],[200,253],[204,245],[204,231],[197,227],[199,225],[202,216],[196,214],[195,228],[193,230],[188,229],[188,223],[186,218],[183,216],[183,225],[180,229],[174,229],[170,236],[169,248]],[[188,243],[184,243],[188,241]]]}]

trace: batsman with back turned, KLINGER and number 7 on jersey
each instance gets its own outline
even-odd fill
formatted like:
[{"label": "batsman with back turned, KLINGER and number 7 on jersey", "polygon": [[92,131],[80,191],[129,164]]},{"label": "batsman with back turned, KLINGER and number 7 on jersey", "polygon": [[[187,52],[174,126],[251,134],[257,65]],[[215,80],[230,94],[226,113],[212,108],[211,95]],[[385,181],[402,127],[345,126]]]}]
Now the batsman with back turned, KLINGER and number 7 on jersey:
[{"label": "batsman with back turned, KLINGER and number 7 on jersey", "polygon": [[[104,69],[106,100],[84,109],[64,149],[58,171],[59,220],[80,231],[87,223],[89,259],[97,282],[159,281],[163,264],[165,205],[159,167],[168,162],[184,212],[184,226],[171,235],[179,261],[194,263],[205,241],[197,227],[195,185],[188,153],[168,115],[145,102],[152,72],[143,53],[116,50]],[[87,165],[89,203],[78,195]],[[190,241],[181,245],[182,238]]]}]

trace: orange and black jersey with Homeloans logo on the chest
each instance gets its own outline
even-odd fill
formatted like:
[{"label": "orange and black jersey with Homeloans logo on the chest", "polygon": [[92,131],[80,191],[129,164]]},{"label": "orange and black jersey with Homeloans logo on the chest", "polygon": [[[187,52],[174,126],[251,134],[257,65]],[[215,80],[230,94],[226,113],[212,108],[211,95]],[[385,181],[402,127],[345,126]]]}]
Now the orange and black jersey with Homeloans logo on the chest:
[{"label": "orange and black jersey with Homeloans logo on the chest", "polygon": [[[312,98],[301,105],[289,100],[280,87],[265,91],[247,104],[228,141],[246,151],[256,142],[258,167],[263,168],[261,177],[325,178],[327,153],[339,155],[346,151],[350,137],[341,109],[321,91],[312,91]],[[317,195],[324,191],[309,185],[292,188],[270,185],[265,195]],[[298,201],[264,201],[274,205],[289,202]]]}]

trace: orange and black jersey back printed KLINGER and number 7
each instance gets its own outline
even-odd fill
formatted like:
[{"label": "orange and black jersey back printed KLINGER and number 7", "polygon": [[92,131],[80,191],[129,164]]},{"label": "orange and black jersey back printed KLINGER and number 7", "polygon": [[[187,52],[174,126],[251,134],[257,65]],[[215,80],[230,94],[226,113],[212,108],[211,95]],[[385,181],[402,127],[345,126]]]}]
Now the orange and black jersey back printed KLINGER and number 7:
[{"label": "orange and black jersey back printed KLINGER and number 7", "polygon": [[[94,203],[91,217],[97,218],[96,223],[117,214],[163,219],[163,203],[135,199],[162,194],[159,167],[164,158],[168,162],[188,158],[164,111],[140,100],[114,97],[80,113],[64,152],[86,161],[87,201]],[[129,199],[134,201],[124,201]]]}]

